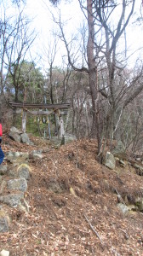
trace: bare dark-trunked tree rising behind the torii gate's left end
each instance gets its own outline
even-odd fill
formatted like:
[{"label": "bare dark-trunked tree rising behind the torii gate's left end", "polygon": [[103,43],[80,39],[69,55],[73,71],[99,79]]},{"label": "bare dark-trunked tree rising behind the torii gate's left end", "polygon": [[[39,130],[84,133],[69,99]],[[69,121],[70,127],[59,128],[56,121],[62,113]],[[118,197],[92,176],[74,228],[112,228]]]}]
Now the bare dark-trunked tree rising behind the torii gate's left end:
[{"label": "bare dark-trunked tree rising behind the torii gate's left end", "polygon": [[[26,58],[26,53],[30,49],[35,39],[34,32],[29,32],[29,20],[20,13],[14,24],[14,32],[10,38],[11,47],[7,47],[7,68],[12,78],[15,89],[15,102],[18,102],[20,89],[21,65]],[[22,84],[24,87],[24,84]]]}]

